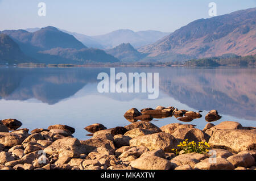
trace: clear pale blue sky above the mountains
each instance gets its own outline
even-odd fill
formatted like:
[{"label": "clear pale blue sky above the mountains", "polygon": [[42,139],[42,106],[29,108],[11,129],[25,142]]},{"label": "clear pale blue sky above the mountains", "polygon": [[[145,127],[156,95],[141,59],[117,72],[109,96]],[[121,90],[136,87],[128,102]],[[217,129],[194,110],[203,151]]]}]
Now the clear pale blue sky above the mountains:
[{"label": "clear pale blue sky above the mountains", "polygon": [[[46,16],[38,4],[46,3]],[[85,35],[119,29],[174,32],[193,20],[256,7],[256,0],[0,0],[0,31],[54,26]]]}]

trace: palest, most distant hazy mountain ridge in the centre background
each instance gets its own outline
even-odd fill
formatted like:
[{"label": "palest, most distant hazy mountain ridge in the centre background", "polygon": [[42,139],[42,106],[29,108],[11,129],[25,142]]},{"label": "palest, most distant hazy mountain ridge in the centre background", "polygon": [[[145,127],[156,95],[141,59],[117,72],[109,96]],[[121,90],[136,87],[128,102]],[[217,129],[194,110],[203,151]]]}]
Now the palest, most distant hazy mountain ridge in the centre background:
[{"label": "palest, most distant hazy mountain ridge in the centre background", "polygon": [[100,44],[104,45],[106,49],[118,46],[122,43],[130,43],[133,47],[142,47],[147,44],[154,43],[155,41],[167,36],[169,33],[159,31],[139,31],[134,32],[131,30],[117,30],[105,35],[92,36]]}]

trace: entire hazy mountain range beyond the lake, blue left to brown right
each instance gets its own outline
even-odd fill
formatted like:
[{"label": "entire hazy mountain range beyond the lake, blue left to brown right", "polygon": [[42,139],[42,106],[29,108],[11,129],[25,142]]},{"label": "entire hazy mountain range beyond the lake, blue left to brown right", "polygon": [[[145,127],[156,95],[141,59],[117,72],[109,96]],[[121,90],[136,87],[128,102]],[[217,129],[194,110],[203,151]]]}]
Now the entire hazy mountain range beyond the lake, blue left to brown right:
[{"label": "entire hazy mountain range beyond the lake, blue left to brown right", "polygon": [[0,61],[86,64],[184,62],[230,53],[247,56],[256,54],[255,17],[256,8],[240,10],[195,20],[170,34],[117,30],[105,35],[86,36],[55,27],[5,30],[0,32],[5,34],[0,41]]}]

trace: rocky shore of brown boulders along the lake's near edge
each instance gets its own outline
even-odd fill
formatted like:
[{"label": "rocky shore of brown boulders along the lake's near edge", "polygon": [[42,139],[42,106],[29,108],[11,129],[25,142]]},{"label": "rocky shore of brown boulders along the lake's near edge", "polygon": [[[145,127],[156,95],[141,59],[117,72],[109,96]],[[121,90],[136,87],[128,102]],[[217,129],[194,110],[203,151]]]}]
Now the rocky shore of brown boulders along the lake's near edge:
[{"label": "rocky shore of brown boulders along the lake's near edge", "polygon": [[[85,129],[92,138],[78,140],[68,125],[51,125],[29,133],[18,129],[15,119],[0,121],[1,170],[255,170],[256,128],[224,121],[196,125],[172,123],[156,127],[152,117],[176,116],[184,120],[201,117],[199,112],[174,107],[135,108],[125,117],[133,123],[107,129],[102,124]],[[185,118],[184,118],[185,117]],[[220,119],[216,110],[205,120]],[[137,121],[141,120],[141,121]],[[184,153],[178,146],[186,140],[210,146],[206,153]],[[176,151],[174,151],[176,150]]]}]

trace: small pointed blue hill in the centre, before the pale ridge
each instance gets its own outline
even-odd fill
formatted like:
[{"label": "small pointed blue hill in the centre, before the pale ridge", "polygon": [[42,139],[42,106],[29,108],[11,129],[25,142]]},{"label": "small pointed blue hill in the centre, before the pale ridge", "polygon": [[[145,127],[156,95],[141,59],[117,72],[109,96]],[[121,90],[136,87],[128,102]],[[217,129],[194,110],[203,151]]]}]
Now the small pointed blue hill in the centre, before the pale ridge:
[{"label": "small pointed blue hill in the centre, before the pale ridge", "polygon": [[113,49],[106,50],[107,53],[125,62],[134,62],[141,60],[146,55],[139,53],[137,49],[133,48],[129,43],[123,43]]}]

